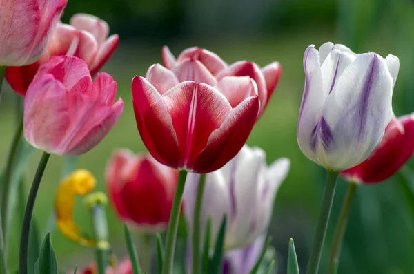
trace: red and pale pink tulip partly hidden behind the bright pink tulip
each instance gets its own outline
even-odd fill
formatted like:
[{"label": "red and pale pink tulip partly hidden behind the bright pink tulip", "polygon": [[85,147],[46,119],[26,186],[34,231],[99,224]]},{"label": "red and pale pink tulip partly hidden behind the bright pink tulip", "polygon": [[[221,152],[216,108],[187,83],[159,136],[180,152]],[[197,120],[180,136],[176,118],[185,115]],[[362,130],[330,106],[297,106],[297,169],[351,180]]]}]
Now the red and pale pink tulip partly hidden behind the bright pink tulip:
[{"label": "red and pale pink tulip partly hidden behind the bright pink tulip", "polygon": [[76,56],[86,62],[93,77],[117,48],[119,36],[108,37],[108,23],[89,14],[75,14],[70,25],[58,23],[50,44],[40,59],[31,65],[8,67],[6,80],[15,92],[24,96],[42,63],[52,56]]}]

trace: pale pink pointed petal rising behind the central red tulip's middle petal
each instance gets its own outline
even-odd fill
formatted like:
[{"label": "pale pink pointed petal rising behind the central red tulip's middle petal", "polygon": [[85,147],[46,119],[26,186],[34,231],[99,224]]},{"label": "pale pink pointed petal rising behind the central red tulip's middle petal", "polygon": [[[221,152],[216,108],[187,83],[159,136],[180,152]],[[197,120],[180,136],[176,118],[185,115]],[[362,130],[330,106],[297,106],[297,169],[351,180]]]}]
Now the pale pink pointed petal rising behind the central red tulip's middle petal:
[{"label": "pale pink pointed petal rising behind the central red tulip's middle petal", "polygon": [[195,81],[215,87],[217,81],[213,74],[198,60],[186,59],[172,69],[180,82]]}]

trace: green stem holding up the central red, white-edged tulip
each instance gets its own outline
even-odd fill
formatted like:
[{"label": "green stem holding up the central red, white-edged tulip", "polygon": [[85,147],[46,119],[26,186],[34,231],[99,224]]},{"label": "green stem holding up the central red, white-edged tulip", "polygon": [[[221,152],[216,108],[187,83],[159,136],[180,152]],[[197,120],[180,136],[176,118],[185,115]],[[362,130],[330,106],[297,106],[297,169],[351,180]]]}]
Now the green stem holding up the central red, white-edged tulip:
[{"label": "green stem holding up the central red, white-edged tulip", "polygon": [[184,186],[186,185],[187,171],[179,171],[177,187],[175,189],[174,200],[172,201],[172,209],[170,213],[170,221],[168,222],[166,250],[164,255],[164,264],[162,266],[162,274],[172,273],[172,264],[174,262],[175,238],[177,238],[179,212],[181,210],[181,202],[183,200]]}]

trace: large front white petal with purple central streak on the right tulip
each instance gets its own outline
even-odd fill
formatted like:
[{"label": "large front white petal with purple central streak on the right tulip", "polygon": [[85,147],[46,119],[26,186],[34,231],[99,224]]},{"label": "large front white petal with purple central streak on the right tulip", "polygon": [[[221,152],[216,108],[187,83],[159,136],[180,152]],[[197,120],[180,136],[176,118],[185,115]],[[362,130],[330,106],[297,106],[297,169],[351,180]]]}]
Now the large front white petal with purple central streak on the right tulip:
[{"label": "large front white petal with purple central streak on the right tulip", "polygon": [[321,119],[332,141],[324,141],[326,130],[314,132],[324,146],[318,156],[322,166],[347,169],[368,158],[393,117],[392,85],[386,63],[377,54],[359,54],[346,68],[326,98]]}]

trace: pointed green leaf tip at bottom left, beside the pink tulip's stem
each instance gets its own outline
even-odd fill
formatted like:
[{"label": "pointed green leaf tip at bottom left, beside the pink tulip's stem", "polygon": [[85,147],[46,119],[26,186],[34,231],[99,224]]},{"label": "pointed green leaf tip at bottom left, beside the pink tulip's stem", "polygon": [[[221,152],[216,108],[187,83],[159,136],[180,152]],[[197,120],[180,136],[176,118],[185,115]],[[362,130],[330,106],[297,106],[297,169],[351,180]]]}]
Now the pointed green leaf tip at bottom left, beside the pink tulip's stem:
[{"label": "pointed green leaf tip at bottom left, beside the pink tulip's stem", "polygon": [[39,259],[34,264],[34,274],[57,274],[56,256],[49,233],[41,246]]}]

